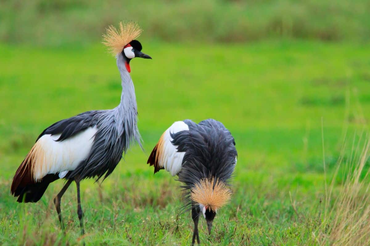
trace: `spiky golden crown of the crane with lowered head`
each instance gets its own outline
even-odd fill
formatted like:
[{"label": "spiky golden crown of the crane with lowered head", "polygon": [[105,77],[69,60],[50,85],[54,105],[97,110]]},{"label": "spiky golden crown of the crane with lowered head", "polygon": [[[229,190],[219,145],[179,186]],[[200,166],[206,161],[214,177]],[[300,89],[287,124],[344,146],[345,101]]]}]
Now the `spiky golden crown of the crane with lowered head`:
[{"label": "spiky golden crown of the crane with lowered head", "polygon": [[231,198],[231,190],[221,180],[202,179],[191,188],[192,201],[210,208],[212,211],[227,204]]}]

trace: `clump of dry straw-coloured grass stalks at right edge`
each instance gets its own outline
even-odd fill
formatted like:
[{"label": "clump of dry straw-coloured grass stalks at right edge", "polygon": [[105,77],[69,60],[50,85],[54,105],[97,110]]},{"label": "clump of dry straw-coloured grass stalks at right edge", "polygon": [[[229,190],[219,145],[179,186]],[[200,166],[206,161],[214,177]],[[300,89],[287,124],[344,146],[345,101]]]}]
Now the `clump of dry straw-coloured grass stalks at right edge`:
[{"label": "clump of dry straw-coloured grass stalks at right edge", "polygon": [[370,245],[370,182],[369,170],[364,170],[369,158],[370,141],[366,141],[361,151],[359,149],[359,145],[354,148],[353,143],[351,156],[343,163],[346,177],[339,194],[334,198],[334,183],[343,158],[338,163],[326,195],[323,221],[313,232],[313,239],[318,245]]}]

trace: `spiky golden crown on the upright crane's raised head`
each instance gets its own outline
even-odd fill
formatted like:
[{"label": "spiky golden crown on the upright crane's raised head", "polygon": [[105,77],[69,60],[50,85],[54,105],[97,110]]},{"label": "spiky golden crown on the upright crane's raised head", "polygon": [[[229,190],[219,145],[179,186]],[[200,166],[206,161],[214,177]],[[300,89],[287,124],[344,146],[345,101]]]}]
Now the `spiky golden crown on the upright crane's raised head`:
[{"label": "spiky golden crown on the upright crane's raised head", "polygon": [[106,45],[113,56],[122,52],[123,48],[132,40],[139,37],[141,27],[135,22],[120,22],[120,28],[117,30],[110,25],[103,34],[103,44]]}]

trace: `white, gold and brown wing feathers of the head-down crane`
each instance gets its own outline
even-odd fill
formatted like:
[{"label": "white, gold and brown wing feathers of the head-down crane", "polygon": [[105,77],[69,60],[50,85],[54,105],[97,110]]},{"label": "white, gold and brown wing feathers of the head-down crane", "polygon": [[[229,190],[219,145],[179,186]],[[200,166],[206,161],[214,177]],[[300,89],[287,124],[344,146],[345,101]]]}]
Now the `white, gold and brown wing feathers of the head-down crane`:
[{"label": "white, gold and brown wing feathers of the head-down crane", "polygon": [[159,138],[147,162],[150,166],[154,166],[154,173],[165,169],[172,176],[175,176],[181,170],[185,152],[178,152],[178,146],[172,144],[171,137],[171,134],[180,131],[189,131],[189,127],[184,121],[176,121]]}]

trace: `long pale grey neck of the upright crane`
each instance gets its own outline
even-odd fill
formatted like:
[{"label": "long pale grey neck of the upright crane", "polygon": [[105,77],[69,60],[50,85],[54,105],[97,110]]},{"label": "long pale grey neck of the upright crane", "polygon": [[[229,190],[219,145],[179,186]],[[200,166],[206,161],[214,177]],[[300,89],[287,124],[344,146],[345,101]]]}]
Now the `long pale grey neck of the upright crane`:
[{"label": "long pale grey neck of the upright crane", "polygon": [[[117,56],[117,67],[120,70],[122,94],[120,104],[114,108],[118,131],[125,132],[127,145],[135,139],[141,146],[141,136],[137,128],[137,104],[134,83],[125,66],[126,58],[120,53]],[[122,127],[122,129],[120,129]],[[141,146],[142,148],[142,146]]]}]

